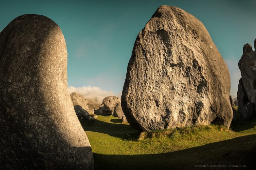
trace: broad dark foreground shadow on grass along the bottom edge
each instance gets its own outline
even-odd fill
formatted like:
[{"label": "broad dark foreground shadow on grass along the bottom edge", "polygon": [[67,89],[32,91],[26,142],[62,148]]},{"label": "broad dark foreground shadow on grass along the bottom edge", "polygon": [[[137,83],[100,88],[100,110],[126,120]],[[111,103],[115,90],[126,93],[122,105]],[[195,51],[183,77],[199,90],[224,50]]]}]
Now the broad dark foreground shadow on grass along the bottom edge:
[{"label": "broad dark foreground shadow on grass along the bottom edge", "polygon": [[[254,169],[256,135],[210,143],[190,149],[148,155],[94,153],[97,169]],[[207,167],[208,165],[208,167]],[[210,167],[212,165],[212,167]],[[243,166],[246,167],[229,167]],[[205,168],[201,168],[201,167]],[[222,167],[220,167],[222,166]]]}]

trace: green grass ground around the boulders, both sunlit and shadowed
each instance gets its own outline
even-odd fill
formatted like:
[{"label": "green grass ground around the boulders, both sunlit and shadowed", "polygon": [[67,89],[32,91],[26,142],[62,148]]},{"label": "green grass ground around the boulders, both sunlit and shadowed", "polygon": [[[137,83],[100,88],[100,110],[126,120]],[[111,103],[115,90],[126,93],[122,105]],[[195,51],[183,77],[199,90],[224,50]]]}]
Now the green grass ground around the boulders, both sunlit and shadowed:
[{"label": "green grass ground around the boulders, both sunlit and shadowed", "polygon": [[80,122],[92,146],[96,170],[198,169],[195,165],[215,164],[255,166],[256,120],[230,130],[209,125],[141,134],[113,116]]}]

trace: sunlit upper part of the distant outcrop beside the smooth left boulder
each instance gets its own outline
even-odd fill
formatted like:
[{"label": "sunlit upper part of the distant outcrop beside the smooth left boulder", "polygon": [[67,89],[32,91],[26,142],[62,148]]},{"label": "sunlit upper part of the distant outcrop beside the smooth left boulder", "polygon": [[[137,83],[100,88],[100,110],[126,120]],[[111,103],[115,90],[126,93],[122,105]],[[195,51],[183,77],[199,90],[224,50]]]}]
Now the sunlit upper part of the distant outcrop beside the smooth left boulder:
[{"label": "sunlit upper part of the distant outcrop beside the smooth left boulder", "polygon": [[82,95],[73,92],[70,94],[71,100],[74,106],[81,106],[89,115],[94,114],[95,104],[94,102],[85,99]]}]

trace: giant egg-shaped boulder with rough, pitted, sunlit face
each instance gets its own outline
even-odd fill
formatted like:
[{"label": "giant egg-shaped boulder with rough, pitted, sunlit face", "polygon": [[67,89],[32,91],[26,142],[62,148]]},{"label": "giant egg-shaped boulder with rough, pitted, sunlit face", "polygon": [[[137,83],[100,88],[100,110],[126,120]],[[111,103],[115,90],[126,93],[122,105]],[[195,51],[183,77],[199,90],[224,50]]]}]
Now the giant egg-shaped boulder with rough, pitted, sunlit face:
[{"label": "giant egg-shaped boulder with rough, pitted, sunlit face", "polygon": [[230,77],[204,25],[160,6],[138,34],[121,105],[139,131],[220,123],[229,128]]}]

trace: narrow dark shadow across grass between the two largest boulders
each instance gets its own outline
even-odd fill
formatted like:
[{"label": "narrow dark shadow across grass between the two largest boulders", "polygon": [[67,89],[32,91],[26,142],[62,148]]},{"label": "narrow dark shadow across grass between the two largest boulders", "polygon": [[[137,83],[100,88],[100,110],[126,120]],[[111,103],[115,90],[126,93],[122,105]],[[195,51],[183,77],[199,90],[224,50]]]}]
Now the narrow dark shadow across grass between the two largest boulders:
[{"label": "narrow dark shadow across grass between the two largest boulders", "polygon": [[120,119],[111,119],[111,122],[107,123],[101,120],[84,120],[79,119],[84,131],[98,132],[107,134],[114,137],[119,137],[123,140],[137,140],[139,132],[137,132],[130,125],[121,124]]}]

